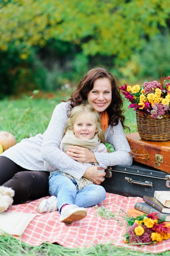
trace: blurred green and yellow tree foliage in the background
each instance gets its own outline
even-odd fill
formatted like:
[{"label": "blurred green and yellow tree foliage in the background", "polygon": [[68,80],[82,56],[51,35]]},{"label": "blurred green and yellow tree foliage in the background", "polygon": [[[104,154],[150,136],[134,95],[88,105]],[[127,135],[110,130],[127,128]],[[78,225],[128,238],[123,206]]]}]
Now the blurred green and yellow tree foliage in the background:
[{"label": "blurred green and yellow tree foliage in the background", "polygon": [[[23,88],[54,90],[77,82],[94,65],[136,79],[153,76],[161,56],[166,56],[162,45],[165,38],[169,40],[170,4],[169,0],[1,0],[0,28],[0,97]],[[149,72],[155,58],[157,65]],[[164,68],[160,72],[165,73]]]}]

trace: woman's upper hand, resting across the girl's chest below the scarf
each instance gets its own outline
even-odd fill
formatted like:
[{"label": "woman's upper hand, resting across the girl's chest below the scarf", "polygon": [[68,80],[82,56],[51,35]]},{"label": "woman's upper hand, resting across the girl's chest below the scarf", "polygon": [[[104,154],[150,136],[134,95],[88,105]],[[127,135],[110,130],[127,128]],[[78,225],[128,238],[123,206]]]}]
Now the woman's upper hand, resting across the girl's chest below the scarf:
[{"label": "woman's upper hand, resting across the girl's chest below the scarf", "polygon": [[97,163],[95,154],[91,152],[88,148],[69,146],[67,148],[66,155],[78,162]]}]

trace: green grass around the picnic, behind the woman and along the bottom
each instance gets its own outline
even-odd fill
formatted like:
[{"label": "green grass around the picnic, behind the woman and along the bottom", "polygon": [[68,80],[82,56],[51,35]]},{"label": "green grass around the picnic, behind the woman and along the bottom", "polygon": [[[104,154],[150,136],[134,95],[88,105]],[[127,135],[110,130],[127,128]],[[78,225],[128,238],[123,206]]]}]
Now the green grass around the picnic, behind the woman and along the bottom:
[{"label": "green grass around the picnic, behind the woman and along the bottom", "polygon": [[[66,93],[58,92],[53,98],[40,98],[40,95],[22,97],[21,99],[4,99],[0,101],[0,131],[11,132],[17,142],[25,137],[43,133],[49,124],[53,109],[59,100],[67,99]],[[131,132],[137,131],[135,112],[127,110],[128,103],[124,101],[126,125]],[[128,133],[128,130],[125,130]],[[30,246],[21,242],[13,236],[4,234],[0,236],[0,256],[146,256],[155,255],[143,253],[136,250],[129,250],[128,247],[116,247],[115,245],[104,244],[90,248],[66,248],[57,244],[43,243],[40,246]],[[135,248],[134,248],[135,249]],[[170,251],[157,255],[169,256]]]}]

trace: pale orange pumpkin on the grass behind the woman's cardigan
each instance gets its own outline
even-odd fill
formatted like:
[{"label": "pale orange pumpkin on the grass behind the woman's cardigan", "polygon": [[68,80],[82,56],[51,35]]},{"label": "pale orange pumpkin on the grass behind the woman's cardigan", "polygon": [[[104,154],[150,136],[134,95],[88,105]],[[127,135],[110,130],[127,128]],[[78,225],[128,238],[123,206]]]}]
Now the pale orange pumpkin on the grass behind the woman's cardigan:
[{"label": "pale orange pumpkin on the grass behind the woman's cardigan", "polygon": [[16,144],[15,137],[10,133],[6,131],[0,132],[0,144],[3,148],[3,151],[7,150],[8,148],[11,148]]}]

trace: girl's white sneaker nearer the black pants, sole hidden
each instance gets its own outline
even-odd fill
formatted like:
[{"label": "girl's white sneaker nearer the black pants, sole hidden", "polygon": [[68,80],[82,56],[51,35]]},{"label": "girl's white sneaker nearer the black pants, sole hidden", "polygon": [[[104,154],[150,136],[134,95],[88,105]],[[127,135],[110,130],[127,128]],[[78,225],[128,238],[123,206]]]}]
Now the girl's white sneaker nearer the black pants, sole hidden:
[{"label": "girl's white sneaker nearer the black pants, sole hidden", "polygon": [[48,199],[42,199],[40,204],[38,205],[38,213],[57,211],[57,198],[52,195]]}]

